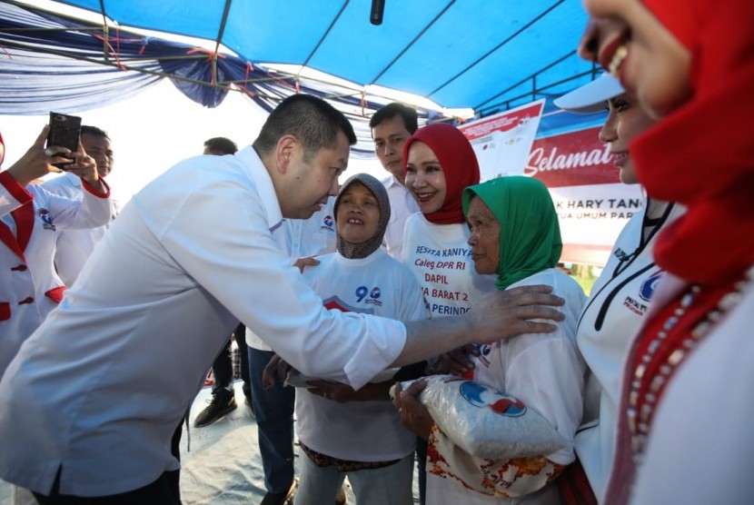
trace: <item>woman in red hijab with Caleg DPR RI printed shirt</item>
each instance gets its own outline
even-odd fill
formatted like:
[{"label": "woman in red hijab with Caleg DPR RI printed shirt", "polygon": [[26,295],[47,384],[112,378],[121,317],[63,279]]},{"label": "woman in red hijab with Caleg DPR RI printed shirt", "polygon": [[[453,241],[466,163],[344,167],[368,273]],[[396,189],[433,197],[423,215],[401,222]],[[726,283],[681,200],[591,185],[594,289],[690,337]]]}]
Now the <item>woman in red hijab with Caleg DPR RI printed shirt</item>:
[{"label": "woman in red hijab with Caleg DPR RI printed shirt", "polygon": [[[474,270],[461,208],[463,189],[479,183],[476,154],[458,128],[430,124],[403,144],[403,160],[406,187],[421,212],[406,220],[401,261],[419,280],[432,318],[467,312],[481,296],[496,291],[494,275]],[[423,503],[426,442],[421,438],[417,456]]]}]

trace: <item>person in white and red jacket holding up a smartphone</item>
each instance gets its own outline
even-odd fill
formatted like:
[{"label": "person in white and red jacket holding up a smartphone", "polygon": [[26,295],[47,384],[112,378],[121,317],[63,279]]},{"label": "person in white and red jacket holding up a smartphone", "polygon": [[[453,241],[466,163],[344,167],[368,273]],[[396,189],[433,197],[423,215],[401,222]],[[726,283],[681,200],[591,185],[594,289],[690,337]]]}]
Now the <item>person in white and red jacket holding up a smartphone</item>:
[{"label": "person in white and red jacket holding up a smartphone", "polygon": [[[0,172],[0,377],[26,338],[61,301],[64,284],[55,272],[55,230],[91,228],[110,221],[110,189],[94,158],[50,146],[49,126],[9,169]],[[0,136],[0,163],[5,144]],[[35,179],[64,163],[84,187],[82,201],[50,193]]]}]

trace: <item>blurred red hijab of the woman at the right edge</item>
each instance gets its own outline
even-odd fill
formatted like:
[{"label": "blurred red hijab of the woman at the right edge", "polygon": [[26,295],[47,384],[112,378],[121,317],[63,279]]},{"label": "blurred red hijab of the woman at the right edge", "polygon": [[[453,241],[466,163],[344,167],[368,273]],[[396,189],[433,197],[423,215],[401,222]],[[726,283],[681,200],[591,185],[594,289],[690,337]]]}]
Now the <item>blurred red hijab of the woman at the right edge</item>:
[{"label": "blurred red hijab of the woman at the right edge", "polygon": [[686,281],[726,282],[754,263],[754,2],[644,3],[692,54],[693,96],[631,145],[647,193],[688,207],[655,257]]}]

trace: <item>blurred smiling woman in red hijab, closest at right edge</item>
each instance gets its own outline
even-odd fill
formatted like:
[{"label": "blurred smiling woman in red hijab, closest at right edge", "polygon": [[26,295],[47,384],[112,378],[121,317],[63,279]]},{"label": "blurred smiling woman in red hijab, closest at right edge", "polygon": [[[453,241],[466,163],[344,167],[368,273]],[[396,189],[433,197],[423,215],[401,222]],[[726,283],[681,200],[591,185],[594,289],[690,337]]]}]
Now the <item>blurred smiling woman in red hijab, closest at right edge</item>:
[{"label": "blurred smiling woman in red hijab, closest at right edge", "polygon": [[660,119],[631,145],[640,182],[688,209],[655,247],[670,275],[626,360],[605,502],[749,502],[754,3],[585,5],[580,53]]}]

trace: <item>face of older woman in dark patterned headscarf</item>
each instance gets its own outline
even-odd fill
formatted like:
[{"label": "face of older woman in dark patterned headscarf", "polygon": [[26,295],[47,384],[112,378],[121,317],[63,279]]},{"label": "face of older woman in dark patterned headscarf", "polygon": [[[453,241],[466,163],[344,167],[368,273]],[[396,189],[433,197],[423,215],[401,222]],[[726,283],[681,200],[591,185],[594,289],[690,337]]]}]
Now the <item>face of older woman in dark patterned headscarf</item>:
[{"label": "face of older woman in dark patterned headscarf", "polygon": [[362,183],[352,183],[338,199],[338,234],[346,242],[366,242],[377,233],[380,203],[372,190]]}]

